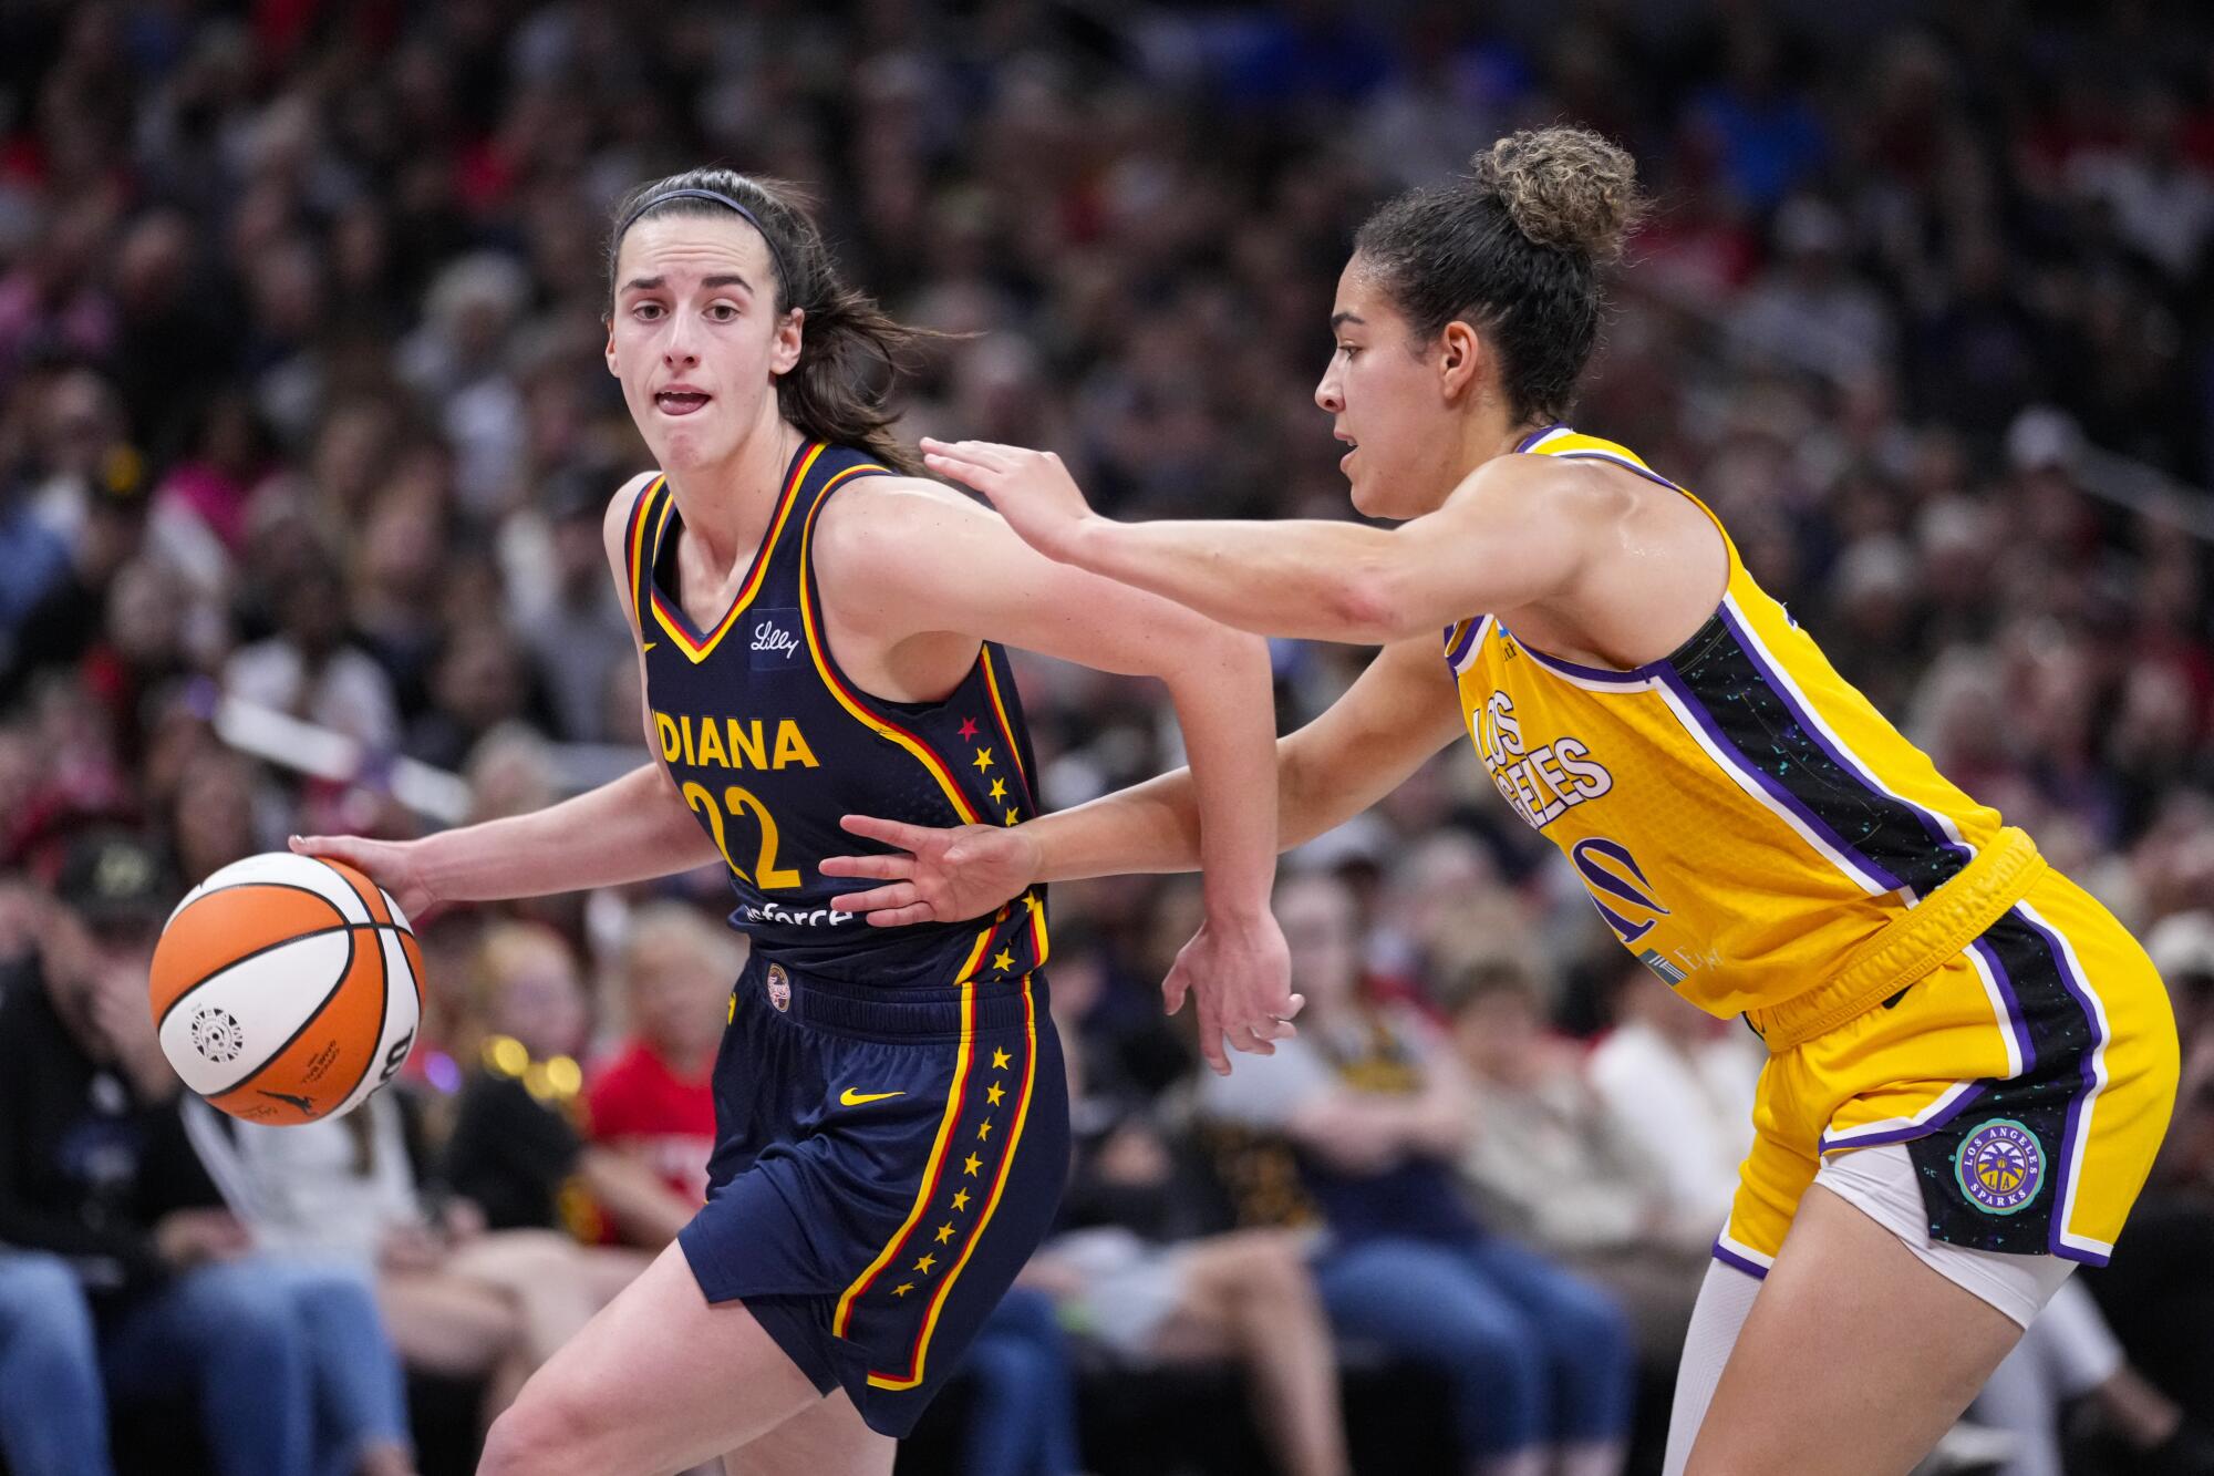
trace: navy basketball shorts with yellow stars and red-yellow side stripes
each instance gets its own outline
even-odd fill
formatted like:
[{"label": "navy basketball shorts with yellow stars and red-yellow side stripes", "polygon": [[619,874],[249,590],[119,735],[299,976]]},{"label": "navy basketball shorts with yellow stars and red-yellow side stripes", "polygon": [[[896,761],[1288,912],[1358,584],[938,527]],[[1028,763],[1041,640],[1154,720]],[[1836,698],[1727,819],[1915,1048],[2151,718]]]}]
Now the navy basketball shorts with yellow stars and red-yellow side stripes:
[{"label": "navy basketball shorts with yellow stars and red-yellow side stripes", "polygon": [[708,1199],[677,1234],[870,1429],[906,1436],[1045,1239],[1069,1099],[1045,977],[810,980],[755,955],[715,1059]]}]

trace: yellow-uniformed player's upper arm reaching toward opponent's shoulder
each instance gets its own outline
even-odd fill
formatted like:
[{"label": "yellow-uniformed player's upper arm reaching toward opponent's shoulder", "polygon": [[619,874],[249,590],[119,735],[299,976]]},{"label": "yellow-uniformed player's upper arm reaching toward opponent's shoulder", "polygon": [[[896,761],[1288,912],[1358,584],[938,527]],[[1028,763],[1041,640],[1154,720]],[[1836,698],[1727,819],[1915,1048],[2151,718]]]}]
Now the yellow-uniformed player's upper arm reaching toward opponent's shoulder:
[{"label": "yellow-uniformed player's upper arm reaching toward opponent's shoulder", "polygon": [[1118,523],[1092,512],[1052,452],[990,441],[923,448],[932,470],[990,496],[1047,558],[1240,629],[1355,645],[1561,594],[1618,510],[1596,483],[1563,483],[1543,457],[1497,457],[1444,508],[1393,530],[1313,519]]}]

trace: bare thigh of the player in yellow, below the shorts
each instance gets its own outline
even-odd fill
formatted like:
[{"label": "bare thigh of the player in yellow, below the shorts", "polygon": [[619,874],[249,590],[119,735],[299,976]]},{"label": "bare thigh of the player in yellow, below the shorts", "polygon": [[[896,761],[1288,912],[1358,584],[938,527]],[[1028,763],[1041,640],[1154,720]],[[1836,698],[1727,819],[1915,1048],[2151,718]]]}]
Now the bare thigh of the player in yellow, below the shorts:
[{"label": "bare thigh of the player in yellow, below the shorts", "polygon": [[1906,1472],[2021,1328],[1815,1186],[1716,1385],[1687,1476]]}]

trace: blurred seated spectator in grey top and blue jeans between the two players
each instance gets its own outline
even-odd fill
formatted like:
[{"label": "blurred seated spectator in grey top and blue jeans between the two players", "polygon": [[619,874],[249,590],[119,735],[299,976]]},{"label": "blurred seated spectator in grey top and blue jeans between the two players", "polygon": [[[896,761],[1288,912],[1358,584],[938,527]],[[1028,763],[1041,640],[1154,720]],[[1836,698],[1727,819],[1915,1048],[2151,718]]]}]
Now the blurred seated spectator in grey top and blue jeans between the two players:
[{"label": "blurred seated spectator in grey top and blue jeans between the two players", "polygon": [[[1475,1095],[1426,1015],[1362,995],[1346,884],[1293,878],[1275,911],[1306,995],[1300,1035],[1207,1077],[1200,1106],[1262,1155],[1291,1146],[1297,1190],[1331,1232],[1315,1263],[1331,1325],[1450,1383],[1470,1469],[1621,1469],[1636,1372],[1623,1312],[1486,1232],[1461,1199]],[[1233,1183],[1262,1177],[1231,1170]]]}]

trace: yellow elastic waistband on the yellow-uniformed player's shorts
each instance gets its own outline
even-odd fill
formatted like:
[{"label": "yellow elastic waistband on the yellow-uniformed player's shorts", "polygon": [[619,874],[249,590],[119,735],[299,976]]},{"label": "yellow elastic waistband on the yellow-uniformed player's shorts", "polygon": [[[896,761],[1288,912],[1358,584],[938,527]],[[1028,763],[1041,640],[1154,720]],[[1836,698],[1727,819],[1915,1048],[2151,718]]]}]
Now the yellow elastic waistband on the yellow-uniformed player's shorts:
[{"label": "yellow elastic waistband on the yellow-uniformed player's shorts", "polygon": [[1829,984],[1765,1011],[1745,1011],[1745,1019],[1771,1055],[1835,1031],[1975,942],[2044,873],[2046,858],[2037,853],[2037,842],[2008,824],[1959,875],[1853,949]]}]

